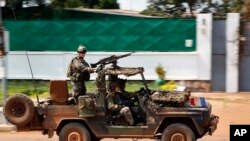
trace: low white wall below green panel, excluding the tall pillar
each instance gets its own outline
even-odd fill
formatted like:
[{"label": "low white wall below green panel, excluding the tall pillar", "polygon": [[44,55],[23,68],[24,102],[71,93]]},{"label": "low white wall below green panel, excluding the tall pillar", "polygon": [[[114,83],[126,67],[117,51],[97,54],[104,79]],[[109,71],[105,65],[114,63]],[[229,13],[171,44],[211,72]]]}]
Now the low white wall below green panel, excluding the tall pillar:
[{"label": "low white wall below green panel, excluding the tall pillar", "polygon": [[[86,60],[95,63],[103,57],[124,53],[89,52]],[[63,52],[28,52],[35,79],[66,79],[67,66],[76,53]],[[199,75],[199,54],[194,53],[153,53],[137,52],[127,58],[119,60],[122,67],[144,67],[147,79],[156,79],[155,67],[161,64],[167,70],[167,79],[193,80],[203,79]],[[205,71],[205,70],[201,70]],[[25,52],[11,52],[8,54],[8,78],[32,78]],[[92,75],[95,78],[95,75]],[[139,76],[130,79],[138,79]]]}]

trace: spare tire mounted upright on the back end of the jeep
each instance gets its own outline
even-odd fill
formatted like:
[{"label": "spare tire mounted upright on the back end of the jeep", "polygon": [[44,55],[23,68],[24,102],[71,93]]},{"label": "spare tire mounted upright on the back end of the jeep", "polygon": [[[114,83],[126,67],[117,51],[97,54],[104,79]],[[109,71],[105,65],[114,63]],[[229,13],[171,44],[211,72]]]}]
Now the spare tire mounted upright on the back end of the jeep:
[{"label": "spare tire mounted upright on the back end of the jeep", "polygon": [[25,94],[12,95],[4,103],[3,113],[10,123],[17,126],[25,125],[34,117],[34,102]]}]

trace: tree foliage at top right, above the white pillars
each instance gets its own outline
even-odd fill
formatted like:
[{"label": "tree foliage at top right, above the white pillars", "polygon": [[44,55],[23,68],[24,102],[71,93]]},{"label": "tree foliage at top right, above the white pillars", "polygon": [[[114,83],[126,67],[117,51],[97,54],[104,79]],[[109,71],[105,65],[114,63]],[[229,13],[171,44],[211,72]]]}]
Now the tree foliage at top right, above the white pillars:
[{"label": "tree foliage at top right, above the white pillars", "polygon": [[[213,13],[225,17],[229,12],[238,12],[250,17],[249,0],[149,0],[150,6],[142,12],[145,15],[161,17],[194,16],[193,11]],[[187,6],[183,6],[183,4]]]}]

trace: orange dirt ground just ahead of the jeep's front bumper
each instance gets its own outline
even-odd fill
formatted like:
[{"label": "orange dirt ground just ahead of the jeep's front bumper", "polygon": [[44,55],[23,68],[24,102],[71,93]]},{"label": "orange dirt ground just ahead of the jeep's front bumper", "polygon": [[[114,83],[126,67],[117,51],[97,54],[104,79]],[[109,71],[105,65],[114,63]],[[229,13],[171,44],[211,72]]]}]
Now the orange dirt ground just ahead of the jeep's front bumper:
[{"label": "orange dirt ground just ahead of the jeep's front bumper", "polygon": [[213,136],[205,136],[198,141],[229,141],[229,127],[232,124],[250,125],[250,100],[226,99],[209,100],[213,105],[213,113],[220,117],[218,129]]}]

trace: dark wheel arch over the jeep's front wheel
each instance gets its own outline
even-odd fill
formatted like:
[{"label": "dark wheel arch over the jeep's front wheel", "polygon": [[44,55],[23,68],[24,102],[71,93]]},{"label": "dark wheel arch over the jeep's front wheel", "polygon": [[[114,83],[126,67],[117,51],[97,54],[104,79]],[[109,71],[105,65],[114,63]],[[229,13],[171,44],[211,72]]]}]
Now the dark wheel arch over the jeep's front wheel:
[{"label": "dark wheel arch over the jeep's front wheel", "polygon": [[163,133],[164,129],[174,123],[182,123],[189,127],[193,132],[196,138],[199,138],[201,135],[197,129],[197,126],[194,120],[190,117],[166,117],[160,124],[159,128],[157,129],[156,133]]}]

